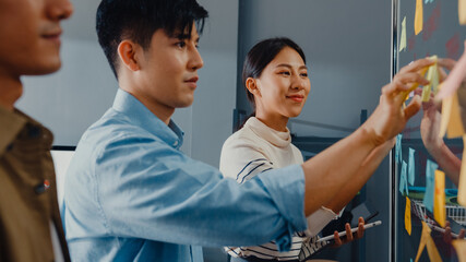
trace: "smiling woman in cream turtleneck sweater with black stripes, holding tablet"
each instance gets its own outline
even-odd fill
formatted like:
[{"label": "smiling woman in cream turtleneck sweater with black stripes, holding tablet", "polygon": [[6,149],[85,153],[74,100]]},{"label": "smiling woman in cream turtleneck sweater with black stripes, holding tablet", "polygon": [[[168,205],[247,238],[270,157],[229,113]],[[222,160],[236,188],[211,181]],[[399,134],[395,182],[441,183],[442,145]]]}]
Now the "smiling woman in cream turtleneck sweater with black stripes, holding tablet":
[{"label": "smiling woman in cream turtleneck sweater with black stripes, holding tablet", "polygon": [[[303,163],[286,126],[301,112],[311,88],[304,53],[288,38],[256,44],[246,58],[242,76],[255,116],[228,138],[220,156],[222,174],[239,183],[273,168]],[[278,252],[274,241],[226,250],[232,261],[302,261],[325,246],[316,241],[316,234],[335,217],[334,211],[324,206],[314,212],[308,217],[309,233],[295,234],[288,252]],[[363,234],[361,218],[358,237]],[[349,233],[349,224],[346,227]],[[353,240],[353,235],[347,239]],[[338,237],[335,241],[342,243]]]}]

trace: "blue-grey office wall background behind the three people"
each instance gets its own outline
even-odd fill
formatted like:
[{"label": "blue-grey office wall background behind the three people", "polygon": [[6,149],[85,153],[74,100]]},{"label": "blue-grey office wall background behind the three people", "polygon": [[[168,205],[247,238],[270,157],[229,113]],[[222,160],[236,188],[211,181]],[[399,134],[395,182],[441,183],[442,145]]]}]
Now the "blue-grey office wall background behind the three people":
[{"label": "blue-grey office wall background behind the three people", "polygon": [[[64,22],[62,69],[48,76],[24,78],[17,107],[55,133],[53,157],[59,182],[85,129],[112,104],[118,83],[97,43],[97,0],[74,0]],[[210,12],[200,41],[204,68],[194,103],[174,120],[186,132],[182,151],[218,167],[224,141],[232,133],[234,111],[249,111],[241,83],[242,61],[259,40],[286,36],[306,52],[311,80],[308,103],[290,131],[297,138],[344,138],[370,115],[381,87],[391,80],[392,3],[383,0],[199,0]],[[65,151],[61,151],[61,150]],[[391,260],[390,162],[385,159],[366,186],[366,198],[383,225],[366,233],[360,261]],[[60,191],[59,194],[63,192]],[[181,189],[180,189],[181,190]],[[226,261],[218,248],[205,249],[206,261]],[[350,261],[351,245],[332,251]]]}]

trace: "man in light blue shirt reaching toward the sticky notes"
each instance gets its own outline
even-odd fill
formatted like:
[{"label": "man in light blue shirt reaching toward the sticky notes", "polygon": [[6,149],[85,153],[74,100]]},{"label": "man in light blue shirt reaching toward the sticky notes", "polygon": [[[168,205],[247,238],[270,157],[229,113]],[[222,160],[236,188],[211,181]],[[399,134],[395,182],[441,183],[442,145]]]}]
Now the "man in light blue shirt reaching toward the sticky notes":
[{"label": "man in light blue shirt reaching toward the sticky notes", "polygon": [[170,120],[193,102],[206,17],[195,0],[101,1],[97,34],[120,88],[69,167],[63,219],[73,260],[202,261],[200,246],[271,240],[287,250],[292,233],[312,227],[307,216],[349,201],[419,109],[417,98],[402,109],[403,92],[425,82],[417,71],[428,60],[383,87],[360,129],[302,166],[242,186],[225,179],[179,151],[182,131]]}]

